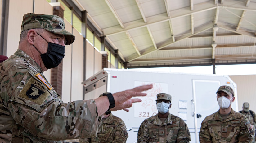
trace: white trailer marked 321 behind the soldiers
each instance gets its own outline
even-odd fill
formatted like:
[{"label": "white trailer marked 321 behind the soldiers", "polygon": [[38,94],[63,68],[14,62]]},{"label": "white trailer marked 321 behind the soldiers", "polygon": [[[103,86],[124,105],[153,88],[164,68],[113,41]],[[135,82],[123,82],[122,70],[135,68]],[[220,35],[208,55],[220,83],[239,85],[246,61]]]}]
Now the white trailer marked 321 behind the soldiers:
[{"label": "white trailer marked 321 behind the soldiers", "polygon": [[104,92],[119,92],[134,87],[153,84],[141,97],[142,102],[134,103],[129,112],[112,112],[123,119],[127,131],[127,143],[137,141],[137,132],[143,120],[158,113],[156,95],[168,93],[172,96],[169,112],[182,118],[188,125],[191,143],[199,142],[199,131],[203,119],[218,111],[216,91],[221,85],[233,88],[236,100],[232,108],[238,111],[236,84],[225,75],[202,75],[154,71],[134,71],[127,69],[104,68],[82,83],[85,87],[84,99],[95,99]]}]

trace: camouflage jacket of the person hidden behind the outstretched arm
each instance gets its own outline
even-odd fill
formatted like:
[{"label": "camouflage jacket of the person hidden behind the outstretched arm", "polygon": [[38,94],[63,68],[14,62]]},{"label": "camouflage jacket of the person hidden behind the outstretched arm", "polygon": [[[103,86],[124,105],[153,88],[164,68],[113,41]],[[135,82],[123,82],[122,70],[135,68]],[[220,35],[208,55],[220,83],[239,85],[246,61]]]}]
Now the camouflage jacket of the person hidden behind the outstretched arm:
[{"label": "camouflage jacket of the person hidden behind the outstretched arm", "polygon": [[79,139],[80,143],[125,143],[128,137],[124,121],[110,113],[96,138]]}]

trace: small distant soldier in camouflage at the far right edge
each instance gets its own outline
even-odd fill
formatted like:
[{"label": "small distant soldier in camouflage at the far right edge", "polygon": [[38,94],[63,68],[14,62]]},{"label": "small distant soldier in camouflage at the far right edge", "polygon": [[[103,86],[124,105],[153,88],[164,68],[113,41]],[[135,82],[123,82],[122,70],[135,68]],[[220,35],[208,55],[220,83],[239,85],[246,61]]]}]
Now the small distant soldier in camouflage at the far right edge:
[{"label": "small distant soldier in camouflage at the far right edge", "polygon": [[[249,103],[245,102],[242,107],[243,110],[239,111],[239,113],[244,114],[248,118],[251,125],[253,126],[253,130],[255,131],[255,129],[256,129],[256,114],[252,110],[249,110],[249,106],[250,106]],[[255,133],[254,133],[253,143],[254,142],[255,142]]]}]

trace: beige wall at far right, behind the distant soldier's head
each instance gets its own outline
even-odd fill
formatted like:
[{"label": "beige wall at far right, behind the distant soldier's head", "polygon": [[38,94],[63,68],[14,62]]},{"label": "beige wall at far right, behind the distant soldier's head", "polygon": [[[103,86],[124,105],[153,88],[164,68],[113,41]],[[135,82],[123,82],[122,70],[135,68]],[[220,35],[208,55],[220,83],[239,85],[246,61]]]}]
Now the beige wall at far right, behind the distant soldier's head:
[{"label": "beige wall at far right, behind the distant soldier's head", "polygon": [[256,112],[256,75],[229,76],[237,85],[238,110],[242,110],[244,102],[250,104],[250,110]]}]

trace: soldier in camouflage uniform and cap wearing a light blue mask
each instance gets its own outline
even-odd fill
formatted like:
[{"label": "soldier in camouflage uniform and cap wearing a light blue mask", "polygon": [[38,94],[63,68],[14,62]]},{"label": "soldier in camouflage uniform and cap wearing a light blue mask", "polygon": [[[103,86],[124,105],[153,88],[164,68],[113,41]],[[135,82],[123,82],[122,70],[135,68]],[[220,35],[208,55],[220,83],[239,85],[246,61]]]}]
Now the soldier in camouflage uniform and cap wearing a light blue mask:
[{"label": "soldier in camouflage uniform and cap wearing a light blue mask", "polygon": [[191,140],[186,123],[169,113],[171,101],[170,94],[157,94],[158,114],[141,123],[137,143],[187,143]]}]

